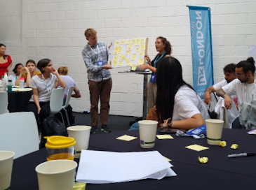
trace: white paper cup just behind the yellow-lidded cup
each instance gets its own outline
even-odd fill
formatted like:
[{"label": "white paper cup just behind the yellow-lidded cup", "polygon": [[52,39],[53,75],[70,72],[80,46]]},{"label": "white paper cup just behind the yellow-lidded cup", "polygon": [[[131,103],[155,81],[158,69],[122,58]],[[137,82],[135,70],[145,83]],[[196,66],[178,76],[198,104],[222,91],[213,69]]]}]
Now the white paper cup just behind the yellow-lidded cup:
[{"label": "white paper cup just behind the yellow-lidded cup", "polygon": [[75,158],[80,158],[82,149],[88,149],[89,139],[90,139],[90,126],[69,126],[67,128],[67,133],[69,137],[76,140],[75,149]]}]

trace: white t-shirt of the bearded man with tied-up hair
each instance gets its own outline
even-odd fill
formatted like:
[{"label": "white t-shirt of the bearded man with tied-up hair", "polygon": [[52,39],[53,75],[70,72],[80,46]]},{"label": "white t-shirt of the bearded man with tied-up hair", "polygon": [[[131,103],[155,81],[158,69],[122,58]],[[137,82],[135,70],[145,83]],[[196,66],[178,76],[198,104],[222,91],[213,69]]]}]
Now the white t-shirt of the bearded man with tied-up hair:
[{"label": "white t-shirt of the bearded man with tied-up hair", "polygon": [[[235,79],[229,82],[228,85],[222,87],[222,89],[229,96],[237,94],[238,110],[241,110],[241,105],[243,102],[250,103],[252,101],[252,104],[256,105],[256,87],[254,87],[255,85],[256,85],[256,82],[253,82],[252,84],[248,84],[246,82],[241,82],[240,80]],[[252,92],[253,88],[254,88],[254,92]],[[253,100],[252,100],[252,95],[253,95]]]}]

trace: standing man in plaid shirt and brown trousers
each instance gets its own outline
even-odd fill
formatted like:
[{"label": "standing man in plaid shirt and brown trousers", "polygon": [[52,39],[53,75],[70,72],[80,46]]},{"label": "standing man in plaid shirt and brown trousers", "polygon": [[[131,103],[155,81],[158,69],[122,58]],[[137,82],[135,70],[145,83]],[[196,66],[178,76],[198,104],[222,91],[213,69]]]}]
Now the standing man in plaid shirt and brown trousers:
[{"label": "standing man in plaid shirt and brown trousers", "polygon": [[101,131],[109,133],[111,131],[107,127],[107,121],[109,119],[109,99],[112,89],[112,78],[109,72],[109,68],[112,68],[112,66],[107,64],[109,50],[105,43],[97,43],[97,31],[94,29],[86,29],[84,35],[88,41],[86,47],[83,48],[82,55],[87,68],[90,90],[90,120],[92,125],[90,133],[94,134],[97,131],[97,104],[99,98]]}]

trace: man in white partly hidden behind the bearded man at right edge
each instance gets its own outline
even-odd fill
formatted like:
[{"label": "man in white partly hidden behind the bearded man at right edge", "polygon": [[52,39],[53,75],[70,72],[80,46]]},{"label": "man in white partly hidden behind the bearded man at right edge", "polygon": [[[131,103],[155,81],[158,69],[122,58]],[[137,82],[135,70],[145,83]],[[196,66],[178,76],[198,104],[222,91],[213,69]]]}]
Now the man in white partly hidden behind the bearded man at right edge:
[{"label": "man in white partly hidden behind the bearded man at right edge", "polygon": [[[234,79],[236,79],[236,64],[227,64],[226,66],[224,66],[223,68],[223,72],[225,75],[225,79],[217,82],[217,84],[210,86],[206,89],[205,92],[205,97],[204,97],[204,102],[209,105],[210,101],[212,101],[210,94],[212,92],[216,92],[218,89],[224,87],[224,85],[227,85],[229,82],[233,81]],[[232,97],[234,99],[234,103],[235,105],[237,105],[237,97]]]}]

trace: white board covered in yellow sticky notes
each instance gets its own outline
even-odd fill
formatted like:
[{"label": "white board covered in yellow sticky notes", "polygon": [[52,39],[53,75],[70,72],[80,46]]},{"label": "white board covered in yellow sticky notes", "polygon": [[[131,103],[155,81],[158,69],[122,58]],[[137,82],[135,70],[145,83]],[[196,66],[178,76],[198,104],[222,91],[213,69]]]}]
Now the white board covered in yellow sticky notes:
[{"label": "white board covered in yellow sticky notes", "polygon": [[140,66],[146,63],[149,38],[133,38],[114,41],[112,67]]}]

